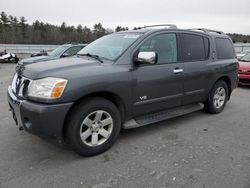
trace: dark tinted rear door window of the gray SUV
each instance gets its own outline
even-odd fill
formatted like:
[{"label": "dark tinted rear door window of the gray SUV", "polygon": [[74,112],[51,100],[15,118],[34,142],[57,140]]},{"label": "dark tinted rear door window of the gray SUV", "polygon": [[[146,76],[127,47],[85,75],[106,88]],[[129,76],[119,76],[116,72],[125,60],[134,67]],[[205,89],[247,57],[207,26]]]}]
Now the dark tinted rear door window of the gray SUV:
[{"label": "dark tinted rear door window of the gray SUV", "polygon": [[199,35],[183,34],[184,61],[205,60],[209,56],[209,39]]}]

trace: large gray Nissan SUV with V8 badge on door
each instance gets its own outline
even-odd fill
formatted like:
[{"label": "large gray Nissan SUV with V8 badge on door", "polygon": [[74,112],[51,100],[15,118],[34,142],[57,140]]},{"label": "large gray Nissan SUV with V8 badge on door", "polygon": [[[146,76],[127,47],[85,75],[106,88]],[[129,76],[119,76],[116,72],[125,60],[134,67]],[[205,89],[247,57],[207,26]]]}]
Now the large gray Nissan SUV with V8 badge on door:
[{"label": "large gray Nissan SUV with V8 badge on door", "polygon": [[144,27],[104,36],[75,57],[21,67],[8,101],[20,129],[92,156],[109,149],[121,128],[201,109],[220,113],[237,74],[222,32]]}]

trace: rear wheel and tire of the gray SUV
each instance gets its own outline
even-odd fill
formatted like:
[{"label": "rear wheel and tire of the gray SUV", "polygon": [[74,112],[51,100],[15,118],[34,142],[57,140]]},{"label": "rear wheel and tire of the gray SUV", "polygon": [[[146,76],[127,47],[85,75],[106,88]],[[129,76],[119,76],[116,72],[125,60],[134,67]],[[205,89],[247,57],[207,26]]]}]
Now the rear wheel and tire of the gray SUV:
[{"label": "rear wheel and tire of the gray SUV", "polygon": [[210,114],[218,114],[223,111],[228,101],[228,85],[225,81],[219,80],[213,86],[205,102],[205,111]]}]

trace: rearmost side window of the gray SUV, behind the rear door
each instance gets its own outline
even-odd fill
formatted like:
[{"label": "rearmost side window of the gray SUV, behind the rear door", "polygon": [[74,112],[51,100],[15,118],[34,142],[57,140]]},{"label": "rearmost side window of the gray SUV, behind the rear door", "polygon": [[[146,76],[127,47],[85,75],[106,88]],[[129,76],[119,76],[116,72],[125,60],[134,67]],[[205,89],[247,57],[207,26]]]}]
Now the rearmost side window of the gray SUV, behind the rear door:
[{"label": "rearmost side window of the gray SUV, behind the rear door", "polygon": [[233,59],[235,58],[232,42],[227,38],[216,38],[216,51],[218,59]]}]

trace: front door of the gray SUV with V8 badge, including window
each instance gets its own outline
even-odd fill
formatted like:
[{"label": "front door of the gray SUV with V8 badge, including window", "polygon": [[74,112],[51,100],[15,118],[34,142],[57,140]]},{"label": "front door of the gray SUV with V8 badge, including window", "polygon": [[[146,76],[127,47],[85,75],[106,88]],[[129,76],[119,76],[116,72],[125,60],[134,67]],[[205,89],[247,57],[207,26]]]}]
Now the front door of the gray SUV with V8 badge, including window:
[{"label": "front door of the gray SUV with V8 badge, including window", "polygon": [[179,38],[175,33],[155,34],[138,48],[156,52],[154,65],[140,64],[132,72],[134,115],[180,106],[183,96],[183,63],[179,61]]}]

